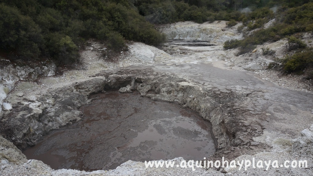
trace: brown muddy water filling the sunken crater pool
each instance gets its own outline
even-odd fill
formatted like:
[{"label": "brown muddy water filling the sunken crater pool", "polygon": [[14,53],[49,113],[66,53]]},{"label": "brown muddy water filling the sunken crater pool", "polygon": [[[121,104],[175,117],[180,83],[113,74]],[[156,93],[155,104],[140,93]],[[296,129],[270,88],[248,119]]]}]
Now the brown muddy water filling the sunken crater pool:
[{"label": "brown muddy water filling the sunken crater pool", "polygon": [[138,93],[107,92],[81,107],[85,118],[24,151],[54,169],[114,169],[128,161],[200,160],[215,151],[211,125],[193,111]]}]

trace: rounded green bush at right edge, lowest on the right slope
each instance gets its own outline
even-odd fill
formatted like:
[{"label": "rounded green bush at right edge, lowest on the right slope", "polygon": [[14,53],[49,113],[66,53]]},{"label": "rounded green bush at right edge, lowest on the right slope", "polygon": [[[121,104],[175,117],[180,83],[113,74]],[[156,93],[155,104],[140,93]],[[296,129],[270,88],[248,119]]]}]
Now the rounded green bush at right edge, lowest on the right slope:
[{"label": "rounded green bush at right edge, lowest on the right slope", "polygon": [[291,56],[286,56],[283,62],[284,70],[288,73],[301,72],[307,67],[313,66],[313,48],[296,52]]}]

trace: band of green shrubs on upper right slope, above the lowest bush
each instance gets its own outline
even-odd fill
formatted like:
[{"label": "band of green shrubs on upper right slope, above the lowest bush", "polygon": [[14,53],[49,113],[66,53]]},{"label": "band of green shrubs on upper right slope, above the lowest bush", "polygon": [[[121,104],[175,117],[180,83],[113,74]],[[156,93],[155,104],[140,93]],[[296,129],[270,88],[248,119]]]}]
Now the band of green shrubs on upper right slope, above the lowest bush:
[{"label": "band of green shrubs on upper right slope, above the lowest bush", "polygon": [[[247,26],[247,30],[259,28],[265,22],[268,22],[269,19],[274,18],[274,13],[265,9],[255,10],[243,18],[243,24]],[[278,22],[273,26],[256,30],[242,40],[227,41],[224,44],[224,48],[240,47],[238,54],[244,54],[254,49],[254,45],[268,41],[275,42],[298,32],[311,32],[313,28],[311,25],[313,23],[313,18],[311,18],[313,15],[313,3],[307,3],[296,8],[282,7],[279,9],[278,14],[280,15],[276,16],[276,18],[279,18]],[[247,17],[250,18],[247,20]]]}]

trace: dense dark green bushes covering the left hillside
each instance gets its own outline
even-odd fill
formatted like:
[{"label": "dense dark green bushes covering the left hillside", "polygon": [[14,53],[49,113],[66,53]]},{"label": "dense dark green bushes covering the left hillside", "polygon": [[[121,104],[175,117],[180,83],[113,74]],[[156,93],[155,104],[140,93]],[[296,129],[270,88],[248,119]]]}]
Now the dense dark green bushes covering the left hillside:
[{"label": "dense dark green bushes covering the left hillside", "polygon": [[4,0],[0,12],[0,50],[24,60],[73,63],[89,38],[114,50],[125,39],[154,46],[165,40],[128,1]]}]

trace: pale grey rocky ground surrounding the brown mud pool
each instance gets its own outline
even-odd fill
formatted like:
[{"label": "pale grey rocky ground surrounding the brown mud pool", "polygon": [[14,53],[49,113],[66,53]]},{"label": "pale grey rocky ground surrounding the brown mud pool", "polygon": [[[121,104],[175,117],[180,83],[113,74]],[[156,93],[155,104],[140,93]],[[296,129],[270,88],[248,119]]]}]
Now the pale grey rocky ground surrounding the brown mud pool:
[{"label": "pale grey rocky ground surrounding the brown mud pool", "polygon": [[[238,25],[228,28],[225,21],[216,21],[163,26],[160,30],[172,41],[163,50],[130,43],[129,50],[116,58],[103,57],[105,46],[90,40],[81,53],[82,66],[60,76],[54,76],[53,65],[21,71],[8,63],[0,73],[0,103],[5,110],[0,112],[4,137],[0,137],[0,174],[312,175],[311,82],[266,70],[273,58],[263,56],[260,48],[270,47],[275,57],[283,57],[285,40],[240,56],[235,56],[236,49],[224,50],[224,41],[242,37]],[[43,77],[34,81],[26,76],[35,74]],[[88,96],[111,89],[136,90],[141,96],[199,112],[212,123],[218,140],[218,150],[204,156],[207,159],[307,160],[309,167],[192,171],[145,168],[144,163],[128,161],[115,170],[85,172],[52,170],[40,161],[27,161],[20,152],[18,148],[35,145],[47,132],[79,121],[78,109],[89,103]]]}]

